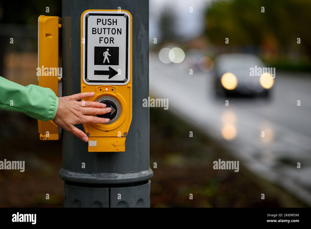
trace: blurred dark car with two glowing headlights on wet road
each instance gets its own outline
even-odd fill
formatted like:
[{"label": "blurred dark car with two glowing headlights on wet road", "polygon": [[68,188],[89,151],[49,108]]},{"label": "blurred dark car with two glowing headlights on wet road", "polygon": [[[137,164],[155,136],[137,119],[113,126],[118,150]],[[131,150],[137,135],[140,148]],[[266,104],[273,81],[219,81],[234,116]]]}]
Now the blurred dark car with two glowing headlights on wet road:
[{"label": "blurred dark car with two glowing headlights on wet road", "polygon": [[[222,54],[215,61],[216,95],[259,95],[268,97],[274,84],[266,66],[253,54]],[[254,69],[251,71],[251,69]],[[262,69],[258,75],[258,69]]]}]

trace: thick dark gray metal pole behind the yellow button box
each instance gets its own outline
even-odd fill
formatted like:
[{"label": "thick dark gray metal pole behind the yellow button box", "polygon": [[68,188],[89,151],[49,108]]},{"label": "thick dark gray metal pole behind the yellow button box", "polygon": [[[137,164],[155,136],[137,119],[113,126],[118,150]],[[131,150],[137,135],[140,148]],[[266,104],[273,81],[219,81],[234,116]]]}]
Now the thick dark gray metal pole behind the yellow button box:
[{"label": "thick dark gray metal pole behind the yellow button box", "polygon": [[[63,0],[63,96],[80,93],[82,12],[118,7],[133,17],[132,123],[125,152],[88,152],[87,143],[64,131],[59,177],[65,181],[65,207],[150,207],[149,108],[142,107],[149,94],[148,1]],[[83,130],[82,125],[77,127]]]}]

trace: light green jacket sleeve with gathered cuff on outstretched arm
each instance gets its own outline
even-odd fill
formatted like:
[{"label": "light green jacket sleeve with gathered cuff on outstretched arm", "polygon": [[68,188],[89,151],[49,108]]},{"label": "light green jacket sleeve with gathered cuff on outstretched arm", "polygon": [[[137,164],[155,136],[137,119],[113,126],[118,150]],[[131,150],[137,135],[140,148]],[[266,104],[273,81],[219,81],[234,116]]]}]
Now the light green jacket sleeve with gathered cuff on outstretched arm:
[{"label": "light green jacket sleeve with gathered cuff on outstretched arm", "polygon": [[58,97],[52,89],[33,84],[24,87],[0,76],[0,109],[48,121],[54,119],[57,108]]}]

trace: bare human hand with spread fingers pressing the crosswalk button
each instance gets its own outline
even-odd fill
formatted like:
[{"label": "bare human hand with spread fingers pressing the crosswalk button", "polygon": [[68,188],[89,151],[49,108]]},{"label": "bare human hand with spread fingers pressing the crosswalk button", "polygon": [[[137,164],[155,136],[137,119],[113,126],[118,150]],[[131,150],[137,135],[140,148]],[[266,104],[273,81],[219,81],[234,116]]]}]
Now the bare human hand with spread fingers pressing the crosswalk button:
[{"label": "bare human hand with spread fingers pressing the crosswalk button", "polygon": [[82,141],[87,142],[88,137],[86,134],[73,125],[81,123],[106,123],[110,120],[109,118],[90,116],[110,112],[111,108],[105,108],[106,104],[91,101],[84,101],[85,104],[83,104],[82,102],[77,101],[81,98],[91,97],[93,95],[94,92],[84,92],[59,97],[58,108],[53,122],[64,130],[71,132]]}]

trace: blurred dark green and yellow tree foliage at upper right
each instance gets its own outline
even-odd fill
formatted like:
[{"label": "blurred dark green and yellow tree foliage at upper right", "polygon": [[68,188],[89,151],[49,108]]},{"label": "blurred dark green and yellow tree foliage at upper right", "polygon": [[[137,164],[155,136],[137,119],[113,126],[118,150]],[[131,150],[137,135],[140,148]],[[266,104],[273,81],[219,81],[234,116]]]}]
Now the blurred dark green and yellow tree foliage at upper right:
[{"label": "blurred dark green and yellow tree foliage at upper right", "polygon": [[304,50],[311,57],[310,12],[310,0],[213,1],[206,10],[205,33],[220,46],[228,37],[230,46],[263,47],[274,54]]}]

